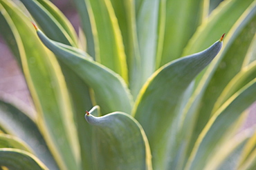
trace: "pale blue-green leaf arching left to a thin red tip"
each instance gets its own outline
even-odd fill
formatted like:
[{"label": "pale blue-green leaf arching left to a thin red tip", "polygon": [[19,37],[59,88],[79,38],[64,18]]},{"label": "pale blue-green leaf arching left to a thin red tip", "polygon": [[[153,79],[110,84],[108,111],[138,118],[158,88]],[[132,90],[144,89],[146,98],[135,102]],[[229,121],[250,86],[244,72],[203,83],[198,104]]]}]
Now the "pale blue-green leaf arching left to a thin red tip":
[{"label": "pale blue-green leaf arching left to a thin red tip", "polygon": [[68,65],[95,92],[95,99],[102,107],[102,113],[124,111],[131,113],[132,99],[122,78],[103,65],[65,50],[55,41],[37,30],[44,45],[52,50],[58,59]]}]

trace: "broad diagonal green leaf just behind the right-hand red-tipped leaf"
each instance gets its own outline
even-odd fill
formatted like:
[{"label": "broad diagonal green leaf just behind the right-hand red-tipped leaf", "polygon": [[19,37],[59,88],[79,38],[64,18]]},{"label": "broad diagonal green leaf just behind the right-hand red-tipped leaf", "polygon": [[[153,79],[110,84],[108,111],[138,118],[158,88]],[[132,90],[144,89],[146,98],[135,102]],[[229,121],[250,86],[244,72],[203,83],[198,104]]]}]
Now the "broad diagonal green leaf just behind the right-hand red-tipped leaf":
[{"label": "broad diagonal green leaf just behind the right-hand red-tipped leaf", "polygon": [[[205,73],[201,79],[198,90],[196,91],[199,92],[200,90],[199,96],[203,96],[200,99],[200,108],[196,111],[196,114],[199,116],[195,123],[194,139],[196,139],[205,124],[208,122],[214,103],[223,89],[241,70],[244,57],[246,56],[246,52],[256,31],[256,29],[251,26],[256,21],[256,3],[254,3],[254,5],[249,8],[249,12],[247,11],[245,14],[246,17],[241,17],[241,19],[243,19],[242,22],[244,23],[240,23],[239,25],[241,28],[244,25],[244,28],[237,28],[238,31],[235,31],[235,33],[232,34],[232,39],[236,39],[228,42],[225,50],[221,53],[222,55],[217,58],[218,61],[216,61],[214,65],[212,64],[209,67],[209,70],[206,71],[207,73]],[[241,41],[243,42],[242,46]],[[219,67],[217,67],[217,65],[219,65]],[[211,73],[208,74],[209,72]],[[193,103],[192,105],[195,104]],[[194,142],[192,141],[192,143]]]}]

